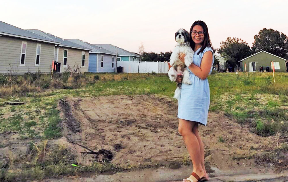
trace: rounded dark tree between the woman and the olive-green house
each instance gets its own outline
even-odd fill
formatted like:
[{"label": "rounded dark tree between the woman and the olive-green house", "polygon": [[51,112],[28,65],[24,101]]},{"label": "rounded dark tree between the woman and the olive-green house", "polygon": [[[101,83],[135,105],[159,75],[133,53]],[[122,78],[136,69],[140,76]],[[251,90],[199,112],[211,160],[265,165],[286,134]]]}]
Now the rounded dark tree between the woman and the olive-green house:
[{"label": "rounded dark tree between the woman and the olive-green house", "polygon": [[217,52],[226,59],[226,63],[232,68],[240,66],[239,61],[251,55],[249,45],[238,37],[227,37],[226,41],[220,43],[220,49],[217,49]]}]

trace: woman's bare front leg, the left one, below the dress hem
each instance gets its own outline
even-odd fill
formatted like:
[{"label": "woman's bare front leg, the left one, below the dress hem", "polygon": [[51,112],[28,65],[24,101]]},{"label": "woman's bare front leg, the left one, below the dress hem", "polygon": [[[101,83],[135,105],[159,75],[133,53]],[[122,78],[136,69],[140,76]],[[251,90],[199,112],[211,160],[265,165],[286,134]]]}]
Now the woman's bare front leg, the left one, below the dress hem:
[{"label": "woman's bare front leg, the left one, below the dress hem", "polygon": [[[195,124],[196,122],[193,121],[179,119],[178,130],[182,135],[188,153],[190,154],[193,163],[193,172],[196,173],[200,178],[202,178],[203,176],[205,176],[205,172],[202,168],[200,144],[196,135],[192,132]],[[197,179],[194,177],[192,177],[192,179],[194,181],[197,181]]]}]

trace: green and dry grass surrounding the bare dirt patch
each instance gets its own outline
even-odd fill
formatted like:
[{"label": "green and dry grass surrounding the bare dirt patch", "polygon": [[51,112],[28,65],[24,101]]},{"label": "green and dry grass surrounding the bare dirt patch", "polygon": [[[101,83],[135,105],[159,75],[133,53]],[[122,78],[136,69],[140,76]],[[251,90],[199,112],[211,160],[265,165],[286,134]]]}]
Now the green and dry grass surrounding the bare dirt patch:
[{"label": "green and dry grass surrounding the bare dirt patch", "polygon": [[[208,78],[210,111],[224,112],[239,124],[250,127],[251,132],[257,135],[266,137],[280,133],[288,137],[288,74],[276,73],[275,78],[274,83],[272,73],[211,74]],[[45,156],[45,141],[47,143],[47,140],[62,136],[57,109],[60,99],[121,94],[173,97],[176,88],[176,84],[170,82],[166,74],[85,74],[78,79],[77,84],[74,78],[63,76],[57,78],[60,81],[51,80],[47,75],[13,78],[14,85],[7,83],[9,79],[0,78],[0,134],[16,133],[20,142],[29,143],[31,151],[30,158],[10,159],[8,164],[0,162],[0,181],[10,181],[20,174],[25,176],[23,179],[43,179],[60,174],[73,175],[117,168],[98,163],[95,166],[73,168],[71,163],[76,161],[61,147]],[[11,106],[5,101],[21,101],[25,105]],[[37,146],[36,141],[42,141],[42,144]],[[219,141],[223,141],[223,138],[219,138]],[[284,143],[281,149],[288,150],[286,145]],[[7,143],[0,143],[0,148],[5,146]],[[30,169],[10,171],[11,166],[19,164]]]}]

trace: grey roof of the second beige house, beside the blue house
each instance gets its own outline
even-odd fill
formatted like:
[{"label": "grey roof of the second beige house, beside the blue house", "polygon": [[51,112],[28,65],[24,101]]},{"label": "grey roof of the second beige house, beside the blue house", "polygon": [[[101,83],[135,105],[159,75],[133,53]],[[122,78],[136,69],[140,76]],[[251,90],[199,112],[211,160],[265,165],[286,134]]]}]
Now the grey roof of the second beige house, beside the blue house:
[{"label": "grey roof of the second beige house, beside the blue house", "polygon": [[60,46],[62,46],[62,47],[70,47],[70,48],[74,48],[74,49],[82,49],[82,50],[92,51],[92,49],[89,49],[88,47],[84,47],[82,45],[68,41],[67,39],[62,39],[60,37],[57,37],[57,36],[52,35],[50,33],[43,32],[43,31],[38,30],[38,29],[29,29],[27,31],[32,32],[36,35],[40,35],[41,37],[45,37],[47,39],[59,42]]}]

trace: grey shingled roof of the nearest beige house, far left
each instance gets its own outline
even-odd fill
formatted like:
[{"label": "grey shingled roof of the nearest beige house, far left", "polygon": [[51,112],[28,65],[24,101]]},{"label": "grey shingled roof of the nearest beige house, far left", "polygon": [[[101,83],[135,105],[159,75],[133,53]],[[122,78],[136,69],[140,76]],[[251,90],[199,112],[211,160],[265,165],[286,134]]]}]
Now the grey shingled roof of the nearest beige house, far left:
[{"label": "grey shingled roof of the nearest beige house, far left", "polygon": [[29,40],[53,43],[53,44],[59,44],[60,43],[56,40],[52,40],[52,39],[49,39],[47,37],[43,37],[41,35],[34,34],[34,33],[29,32],[27,30],[23,30],[21,28],[18,28],[16,26],[13,26],[13,25],[7,24],[5,22],[1,22],[1,21],[0,21],[0,34],[11,36],[11,37],[18,37],[18,38],[22,38],[22,39],[29,39]]}]

